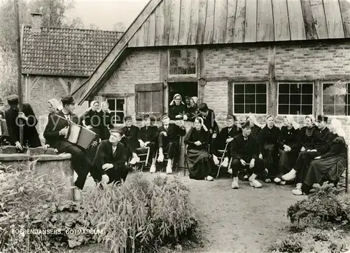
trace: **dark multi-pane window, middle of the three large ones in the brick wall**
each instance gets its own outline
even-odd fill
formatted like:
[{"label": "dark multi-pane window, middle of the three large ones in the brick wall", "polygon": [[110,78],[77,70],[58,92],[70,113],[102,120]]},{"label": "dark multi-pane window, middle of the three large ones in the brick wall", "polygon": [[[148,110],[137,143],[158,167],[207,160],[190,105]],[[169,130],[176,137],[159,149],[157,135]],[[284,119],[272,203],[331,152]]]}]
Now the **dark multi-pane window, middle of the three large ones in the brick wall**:
[{"label": "dark multi-pane window, middle of the three large ones in the brick wall", "polygon": [[313,114],[314,83],[279,83],[279,114]]}]

